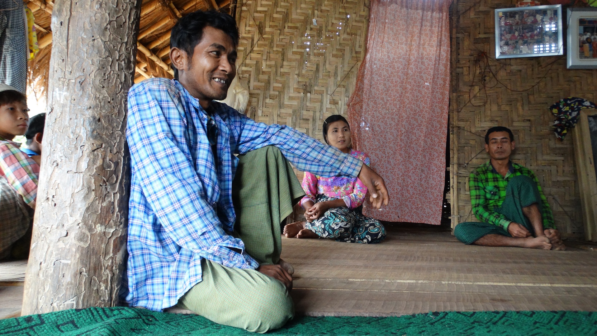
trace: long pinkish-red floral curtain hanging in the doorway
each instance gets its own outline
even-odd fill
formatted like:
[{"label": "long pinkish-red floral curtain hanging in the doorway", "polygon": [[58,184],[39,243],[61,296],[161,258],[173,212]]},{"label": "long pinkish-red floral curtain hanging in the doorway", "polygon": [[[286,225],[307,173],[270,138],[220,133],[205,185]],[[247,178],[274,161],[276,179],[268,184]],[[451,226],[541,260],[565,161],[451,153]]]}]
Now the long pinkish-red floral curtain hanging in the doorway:
[{"label": "long pinkish-red floral curtain hanging in the doorway", "polygon": [[350,97],[358,150],[390,192],[386,221],[440,224],[450,93],[451,0],[372,0],[367,54]]}]

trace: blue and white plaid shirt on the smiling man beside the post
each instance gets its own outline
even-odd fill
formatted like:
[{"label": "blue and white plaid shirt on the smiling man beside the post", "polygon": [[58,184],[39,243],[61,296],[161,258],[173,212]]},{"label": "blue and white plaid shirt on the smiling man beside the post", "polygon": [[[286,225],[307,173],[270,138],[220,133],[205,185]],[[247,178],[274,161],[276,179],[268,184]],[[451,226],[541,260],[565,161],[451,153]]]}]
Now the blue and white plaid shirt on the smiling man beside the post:
[{"label": "blue and white plaid shirt on the smiling man beside the post", "polygon": [[241,239],[229,235],[236,219],[233,153],[275,145],[303,171],[356,177],[361,169],[359,159],[293,128],[254,122],[216,101],[212,107],[217,162],[206,134],[208,115],[179,82],[147,79],[129,91],[131,196],[123,296],[130,306],[174,306],[201,282],[202,258],[240,269],[259,267]]}]

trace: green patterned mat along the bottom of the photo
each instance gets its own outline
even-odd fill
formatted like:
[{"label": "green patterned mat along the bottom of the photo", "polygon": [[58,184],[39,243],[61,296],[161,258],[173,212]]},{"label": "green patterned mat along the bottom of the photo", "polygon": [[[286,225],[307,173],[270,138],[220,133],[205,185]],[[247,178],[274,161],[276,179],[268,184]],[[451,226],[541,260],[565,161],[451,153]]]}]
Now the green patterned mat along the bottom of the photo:
[{"label": "green patterned mat along the bottom of the photo", "polygon": [[[8,335],[256,335],[195,315],[127,307],[0,320]],[[436,312],[400,317],[297,317],[271,335],[595,335],[595,312]]]}]

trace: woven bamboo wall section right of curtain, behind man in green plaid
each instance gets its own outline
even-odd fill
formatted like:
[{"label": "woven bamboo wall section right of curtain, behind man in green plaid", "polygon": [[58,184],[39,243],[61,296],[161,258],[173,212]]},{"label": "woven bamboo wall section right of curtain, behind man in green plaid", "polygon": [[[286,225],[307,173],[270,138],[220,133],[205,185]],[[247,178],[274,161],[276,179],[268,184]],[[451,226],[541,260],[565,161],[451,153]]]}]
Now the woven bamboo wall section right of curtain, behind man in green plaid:
[{"label": "woven bamboo wall section right of curtain, behind man in green plaid", "polygon": [[515,134],[513,161],[538,175],[562,235],[581,237],[573,139],[569,135],[564,141],[556,140],[547,107],[570,96],[596,101],[597,70],[568,70],[565,56],[496,60],[494,9],[509,7],[514,7],[513,1],[458,0],[453,7],[453,226],[476,220],[470,210],[469,173],[488,160],[485,131],[503,125]]}]

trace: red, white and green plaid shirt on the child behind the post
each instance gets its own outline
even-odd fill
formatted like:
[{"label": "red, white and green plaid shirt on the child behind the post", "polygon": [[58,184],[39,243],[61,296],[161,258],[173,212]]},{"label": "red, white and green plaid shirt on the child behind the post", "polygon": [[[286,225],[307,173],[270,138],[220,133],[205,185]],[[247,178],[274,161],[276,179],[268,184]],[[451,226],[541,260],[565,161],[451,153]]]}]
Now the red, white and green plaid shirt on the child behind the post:
[{"label": "red, white and green plaid shirt on the child behind the post", "polygon": [[16,142],[0,138],[0,175],[7,179],[23,201],[35,206],[39,165],[21,152]]}]

